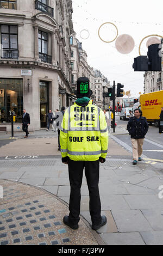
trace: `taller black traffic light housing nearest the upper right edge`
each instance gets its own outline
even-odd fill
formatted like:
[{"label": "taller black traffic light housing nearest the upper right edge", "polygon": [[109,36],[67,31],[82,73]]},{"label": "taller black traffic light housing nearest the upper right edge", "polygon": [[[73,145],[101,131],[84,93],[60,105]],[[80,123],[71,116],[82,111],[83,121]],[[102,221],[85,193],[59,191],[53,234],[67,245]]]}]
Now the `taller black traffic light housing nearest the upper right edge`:
[{"label": "taller black traffic light housing nearest the upper right edge", "polygon": [[150,45],[148,47],[148,71],[161,71],[160,44]]}]

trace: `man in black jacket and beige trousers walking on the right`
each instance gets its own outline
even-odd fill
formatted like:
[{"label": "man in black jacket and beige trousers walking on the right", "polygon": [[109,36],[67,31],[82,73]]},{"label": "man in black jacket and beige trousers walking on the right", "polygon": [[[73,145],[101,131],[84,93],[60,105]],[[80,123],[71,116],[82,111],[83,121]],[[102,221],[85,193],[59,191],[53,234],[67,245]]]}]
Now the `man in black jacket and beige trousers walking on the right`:
[{"label": "man in black jacket and beige trousers walking on the right", "polygon": [[131,117],[127,124],[127,130],[131,136],[133,146],[133,164],[142,161],[143,142],[149,129],[147,119],[142,117],[142,111],[139,108],[134,110],[134,117]]}]

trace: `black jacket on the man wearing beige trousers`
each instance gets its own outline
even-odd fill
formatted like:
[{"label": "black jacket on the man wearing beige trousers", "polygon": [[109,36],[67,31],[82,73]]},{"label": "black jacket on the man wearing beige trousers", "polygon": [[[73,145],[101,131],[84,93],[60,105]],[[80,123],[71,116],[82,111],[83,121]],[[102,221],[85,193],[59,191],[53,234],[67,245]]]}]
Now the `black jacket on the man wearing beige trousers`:
[{"label": "black jacket on the man wearing beige trousers", "polygon": [[136,120],[136,117],[131,117],[127,124],[127,130],[131,136],[131,139],[143,139],[149,129],[147,119],[141,117],[140,120]]}]

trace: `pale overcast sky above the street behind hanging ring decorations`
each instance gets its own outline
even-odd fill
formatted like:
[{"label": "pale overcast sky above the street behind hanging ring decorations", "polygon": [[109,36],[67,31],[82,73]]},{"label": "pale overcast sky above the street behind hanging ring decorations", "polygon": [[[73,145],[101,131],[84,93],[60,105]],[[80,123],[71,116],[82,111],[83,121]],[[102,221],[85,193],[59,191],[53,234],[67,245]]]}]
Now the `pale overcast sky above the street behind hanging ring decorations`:
[{"label": "pale overcast sky above the street behind hanging ring decorations", "polygon": [[[134,57],[139,56],[141,40],[151,34],[163,36],[163,22],[161,23],[163,1],[161,0],[72,0],[73,24],[79,41],[83,42],[83,49],[87,52],[87,62],[93,68],[101,70],[109,81],[115,80],[124,84],[124,91],[131,90],[131,96],[143,93],[143,72],[134,72],[132,65]],[[135,48],[129,54],[121,54],[115,48],[115,41],[109,44],[99,39],[98,29],[104,22],[112,22],[118,28],[118,36],[129,34],[135,41]],[[80,37],[83,29],[89,31],[90,36],[84,40]],[[82,36],[86,37],[87,32]],[[101,36],[110,41],[115,38],[116,29],[111,25],[103,26]],[[141,47],[141,54],[147,55],[146,39]]]}]

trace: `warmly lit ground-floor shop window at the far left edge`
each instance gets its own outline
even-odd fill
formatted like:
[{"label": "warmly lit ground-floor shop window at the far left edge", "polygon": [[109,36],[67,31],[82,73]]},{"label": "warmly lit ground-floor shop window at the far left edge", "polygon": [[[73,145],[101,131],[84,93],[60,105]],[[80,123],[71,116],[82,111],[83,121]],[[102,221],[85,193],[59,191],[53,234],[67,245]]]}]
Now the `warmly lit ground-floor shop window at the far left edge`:
[{"label": "warmly lit ground-floor shop window at the far left edge", "polygon": [[23,80],[0,78],[0,123],[11,123],[11,112],[22,123]]}]

